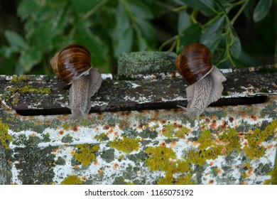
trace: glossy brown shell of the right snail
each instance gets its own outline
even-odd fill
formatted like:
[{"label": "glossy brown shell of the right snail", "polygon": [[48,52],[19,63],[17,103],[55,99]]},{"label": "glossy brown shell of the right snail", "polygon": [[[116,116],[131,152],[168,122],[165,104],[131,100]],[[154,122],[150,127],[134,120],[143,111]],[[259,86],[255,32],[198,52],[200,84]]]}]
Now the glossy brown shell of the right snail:
[{"label": "glossy brown shell of the right snail", "polygon": [[192,85],[212,71],[211,60],[212,53],[206,45],[192,43],[180,53],[175,65],[180,75]]}]

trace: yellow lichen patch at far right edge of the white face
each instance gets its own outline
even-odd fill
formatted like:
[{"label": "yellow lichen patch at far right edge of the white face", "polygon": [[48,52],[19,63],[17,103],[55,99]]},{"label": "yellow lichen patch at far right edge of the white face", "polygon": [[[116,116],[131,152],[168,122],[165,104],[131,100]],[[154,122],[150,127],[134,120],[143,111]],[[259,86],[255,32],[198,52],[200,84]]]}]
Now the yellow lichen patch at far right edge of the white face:
[{"label": "yellow lichen patch at far right edge of the white face", "polygon": [[261,131],[261,129],[255,129],[253,134],[246,134],[245,139],[248,141],[248,146],[244,147],[246,156],[250,159],[261,158],[261,156],[264,156],[266,148],[261,146],[261,143],[266,141],[269,136],[273,136],[276,128],[277,119],[273,120],[264,131]]}]

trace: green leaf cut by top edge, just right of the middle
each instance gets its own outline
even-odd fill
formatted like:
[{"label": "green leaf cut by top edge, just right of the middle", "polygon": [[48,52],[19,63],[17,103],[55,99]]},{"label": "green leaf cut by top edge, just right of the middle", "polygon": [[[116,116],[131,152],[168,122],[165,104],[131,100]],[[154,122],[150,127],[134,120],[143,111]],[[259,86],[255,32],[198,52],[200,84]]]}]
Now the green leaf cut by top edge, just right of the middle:
[{"label": "green leaf cut by top edge, just right of the middle", "polygon": [[153,13],[149,7],[143,3],[143,1],[127,0],[129,9],[131,12],[139,18],[153,18]]}]

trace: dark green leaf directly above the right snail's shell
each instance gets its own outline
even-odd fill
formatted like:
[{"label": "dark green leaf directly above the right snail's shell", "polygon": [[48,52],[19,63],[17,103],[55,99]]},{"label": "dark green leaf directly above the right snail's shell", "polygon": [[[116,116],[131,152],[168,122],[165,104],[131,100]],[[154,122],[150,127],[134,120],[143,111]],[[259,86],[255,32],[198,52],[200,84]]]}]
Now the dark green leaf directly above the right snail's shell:
[{"label": "dark green leaf directly above the right snail's shell", "polygon": [[185,48],[185,46],[190,43],[196,43],[200,40],[201,36],[201,26],[198,23],[192,24],[185,31],[183,31],[182,36],[180,36],[180,48]]}]

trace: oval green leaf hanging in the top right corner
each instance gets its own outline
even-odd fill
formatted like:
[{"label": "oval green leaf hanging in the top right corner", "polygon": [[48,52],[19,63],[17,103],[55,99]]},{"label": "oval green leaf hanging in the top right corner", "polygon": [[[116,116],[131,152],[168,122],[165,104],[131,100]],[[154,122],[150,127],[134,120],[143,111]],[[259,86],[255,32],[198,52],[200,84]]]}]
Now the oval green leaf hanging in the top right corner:
[{"label": "oval green leaf hanging in the top right corner", "polygon": [[269,9],[271,8],[272,0],[260,0],[256,5],[253,14],[254,22],[261,21],[266,14],[268,14]]}]

